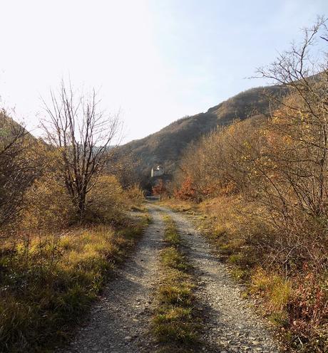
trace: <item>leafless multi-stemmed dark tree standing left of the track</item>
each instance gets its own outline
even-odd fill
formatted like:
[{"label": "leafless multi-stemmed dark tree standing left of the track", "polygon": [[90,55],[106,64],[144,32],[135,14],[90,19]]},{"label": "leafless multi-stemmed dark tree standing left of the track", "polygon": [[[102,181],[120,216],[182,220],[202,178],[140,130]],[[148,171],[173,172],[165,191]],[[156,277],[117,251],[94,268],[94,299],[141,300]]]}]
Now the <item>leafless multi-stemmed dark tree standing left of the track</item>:
[{"label": "leafless multi-stemmed dark tree standing left of the track", "polygon": [[76,95],[71,84],[61,82],[58,93],[51,90],[51,104],[44,102],[48,118],[43,130],[48,142],[61,154],[61,173],[80,221],[86,211],[86,196],[111,158],[113,139],[121,122],[99,107],[95,90]]}]

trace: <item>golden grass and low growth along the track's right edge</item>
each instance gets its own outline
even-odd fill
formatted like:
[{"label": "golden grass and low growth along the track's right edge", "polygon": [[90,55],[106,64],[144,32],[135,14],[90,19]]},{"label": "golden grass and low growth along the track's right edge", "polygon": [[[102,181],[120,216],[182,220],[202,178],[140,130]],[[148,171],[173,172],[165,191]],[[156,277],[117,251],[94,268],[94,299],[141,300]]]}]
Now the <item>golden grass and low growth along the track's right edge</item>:
[{"label": "golden grass and low growth along the track's right edge", "polygon": [[267,221],[270,215],[256,204],[220,196],[198,210],[204,215],[198,218],[202,233],[232,277],[246,285],[244,295],[252,296],[272,322],[285,352],[328,352],[327,270],[316,270],[311,259],[299,265],[291,258],[286,275],[286,267],[272,264],[277,234]]}]

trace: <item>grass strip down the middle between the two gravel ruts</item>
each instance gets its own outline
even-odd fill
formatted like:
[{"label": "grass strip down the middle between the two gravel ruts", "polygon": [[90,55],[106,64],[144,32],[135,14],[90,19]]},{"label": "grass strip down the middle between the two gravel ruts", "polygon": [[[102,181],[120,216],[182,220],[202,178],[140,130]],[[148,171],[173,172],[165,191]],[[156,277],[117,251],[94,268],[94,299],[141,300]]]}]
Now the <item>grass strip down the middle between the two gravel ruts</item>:
[{"label": "grass strip down the middle between the two gravel ruts", "polygon": [[169,217],[165,217],[165,248],[161,251],[163,277],[156,293],[153,334],[160,343],[156,352],[195,352],[200,345],[195,310],[192,267],[182,251],[182,241]]}]

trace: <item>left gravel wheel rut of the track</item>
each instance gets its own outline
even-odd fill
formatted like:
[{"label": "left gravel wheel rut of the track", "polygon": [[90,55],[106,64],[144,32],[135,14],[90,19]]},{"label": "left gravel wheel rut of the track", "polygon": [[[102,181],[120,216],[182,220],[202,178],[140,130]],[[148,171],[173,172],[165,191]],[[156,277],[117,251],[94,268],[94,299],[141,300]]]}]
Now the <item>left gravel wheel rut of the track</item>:
[{"label": "left gravel wheel rut of the track", "polygon": [[152,223],[135,253],[118,268],[115,278],[93,306],[88,322],[58,353],[152,352],[149,336],[153,283],[158,268],[164,226],[160,211],[150,207]]}]

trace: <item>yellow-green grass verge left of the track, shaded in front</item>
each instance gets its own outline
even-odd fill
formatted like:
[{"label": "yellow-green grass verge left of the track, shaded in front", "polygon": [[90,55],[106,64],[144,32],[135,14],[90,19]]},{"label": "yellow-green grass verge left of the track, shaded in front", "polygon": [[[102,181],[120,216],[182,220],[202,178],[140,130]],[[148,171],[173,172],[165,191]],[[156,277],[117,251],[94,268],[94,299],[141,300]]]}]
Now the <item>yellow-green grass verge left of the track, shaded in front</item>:
[{"label": "yellow-green grass verge left of the track, shaded in front", "polygon": [[0,249],[0,352],[51,352],[65,342],[133,249],[147,216]]}]

